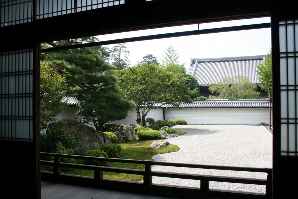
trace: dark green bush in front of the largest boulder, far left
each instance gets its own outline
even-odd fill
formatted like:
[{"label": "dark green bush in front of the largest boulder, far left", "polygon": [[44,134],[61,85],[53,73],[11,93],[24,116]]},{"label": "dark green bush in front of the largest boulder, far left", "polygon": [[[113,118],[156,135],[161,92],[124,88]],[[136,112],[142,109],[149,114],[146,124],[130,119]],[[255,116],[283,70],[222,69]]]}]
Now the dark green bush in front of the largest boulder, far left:
[{"label": "dark green bush in front of the largest boulder, far left", "polygon": [[58,143],[60,143],[59,146],[63,146],[63,148],[73,150],[74,152],[80,146],[75,141],[75,137],[64,129],[51,129],[46,134],[41,133],[41,152],[55,152]]}]

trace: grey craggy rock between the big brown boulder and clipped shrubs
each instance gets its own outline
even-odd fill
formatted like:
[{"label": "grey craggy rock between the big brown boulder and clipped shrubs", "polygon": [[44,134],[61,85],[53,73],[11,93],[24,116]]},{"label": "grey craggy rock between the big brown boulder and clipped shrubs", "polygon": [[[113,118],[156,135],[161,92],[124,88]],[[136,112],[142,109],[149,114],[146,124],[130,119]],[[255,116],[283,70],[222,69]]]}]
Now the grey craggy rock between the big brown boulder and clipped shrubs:
[{"label": "grey craggy rock between the big brown boulder and clipped shrubs", "polygon": [[133,128],[128,125],[119,126],[116,124],[105,124],[102,131],[114,133],[117,136],[119,142],[126,142],[136,139]]}]

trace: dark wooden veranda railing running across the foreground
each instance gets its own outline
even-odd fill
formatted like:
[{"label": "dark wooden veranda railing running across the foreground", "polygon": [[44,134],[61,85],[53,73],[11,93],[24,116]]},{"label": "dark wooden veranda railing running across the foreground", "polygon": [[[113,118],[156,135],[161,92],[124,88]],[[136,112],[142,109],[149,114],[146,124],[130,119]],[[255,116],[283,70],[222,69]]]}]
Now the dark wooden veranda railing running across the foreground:
[{"label": "dark wooden veranda railing running across the foreground", "polygon": [[[133,192],[142,193],[173,193],[184,194],[193,196],[208,196],[219,198],[272,198],[272,169],[271,168],[251,168],[251,167],[236,167],[236,166],[215,166],[215,165],[200,165],[200,164],[187,164],[187,163],[170,163],[170,162],[157,162],[146,160],[128,160],[118,158],[98,158],[81,155],[65,155],[55,153],[41,153],[42,156],[54,157],[54,161],[41,160],[42,165],[53,166],[53,172],[41,171],[42,180],[73,183],[82,186],[93,186],[108,189],[118,189]],[[60,158],[76,158],[76,159],[89,159],[100,160],[108,162],[121,162],[121,163],[134,163],[143,164],[145,169],[127,169],[127,168],[115,168],[108,166],[93,166],[76,163],[63,163],[60,162]],[[175,172],[162,172],[152,171],[152,165],[160,166],[175,166],[175,167],[187,167],[198,169],[218,169],[229,171],[243,171],[243,172],[262,172],[267,173],[267,179],[255,179],[255,178],[238,178],[238,177],[225,177],[225,176],[213,176],[213,175],[198,175],[187,173],[175,173]],[[79,175],[69,175],[61,173],[61,167],[74,168],[74,169],[87,169],[94,171],[94,177],[86,177]],[[143,182],[133,181],[121,181],[103,178],[103,172],[117,172],[143,175]],[[167,178],[182,178],[199,180],[201,182],[200,188],[187,187],[187,186],[175,186],[152,183],[152,176],[167,177]],[[227,183],[244,183],[254,185],[265,185],[266,193],[254,193],[254,192],[240,192],[230,190],[210,189],[209,182],[227,182]]]}]

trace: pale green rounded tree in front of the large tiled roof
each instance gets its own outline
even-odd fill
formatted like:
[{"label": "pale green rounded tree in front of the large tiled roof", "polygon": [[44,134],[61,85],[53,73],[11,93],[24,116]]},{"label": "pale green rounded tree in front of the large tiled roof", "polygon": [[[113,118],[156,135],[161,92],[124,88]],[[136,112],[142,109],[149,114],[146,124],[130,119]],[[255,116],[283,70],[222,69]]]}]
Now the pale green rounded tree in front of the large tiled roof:
[{"label": "pale green rounded tree in front of the large tiled roof", "polygon": [[217,93],[217,96],[209,95],[209,99],[254,99],[260,95],[257,87],[250,83],[250,79],[241,75],[234,78],[222,78],[221,82],[211,85],[209,90],[211,93]]}]

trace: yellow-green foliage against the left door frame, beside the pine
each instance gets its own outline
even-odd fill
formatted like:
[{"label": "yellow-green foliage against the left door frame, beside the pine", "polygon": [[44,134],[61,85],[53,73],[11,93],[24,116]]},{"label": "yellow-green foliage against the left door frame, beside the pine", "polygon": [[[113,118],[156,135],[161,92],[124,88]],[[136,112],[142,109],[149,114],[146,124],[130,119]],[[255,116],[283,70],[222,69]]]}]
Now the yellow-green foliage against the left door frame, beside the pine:
[{"label": "yellow-green foliage against the left door frame, beside the pine", "polygon": [[40,63],[40,129],[46,129],[47,123],[55,121],[55,117],[64,108],[61,102],[65,95],[65,76],[49,65],[49,61]]}]

